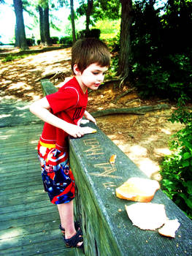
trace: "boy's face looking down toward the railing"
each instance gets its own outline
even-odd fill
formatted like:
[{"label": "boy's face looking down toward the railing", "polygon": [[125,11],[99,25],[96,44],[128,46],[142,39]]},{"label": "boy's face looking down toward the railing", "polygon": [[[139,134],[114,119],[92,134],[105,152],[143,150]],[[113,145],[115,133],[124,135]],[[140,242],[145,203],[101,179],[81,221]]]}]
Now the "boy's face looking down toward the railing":
[{"label": "boy's face looking down toward the railing", "polygon": [[89,65],[83,72],[77,72],[76,78],[82,91],[86,89],[97,90],[103,83],[105,72],[108,67],[101,67],[96,63]]}]

